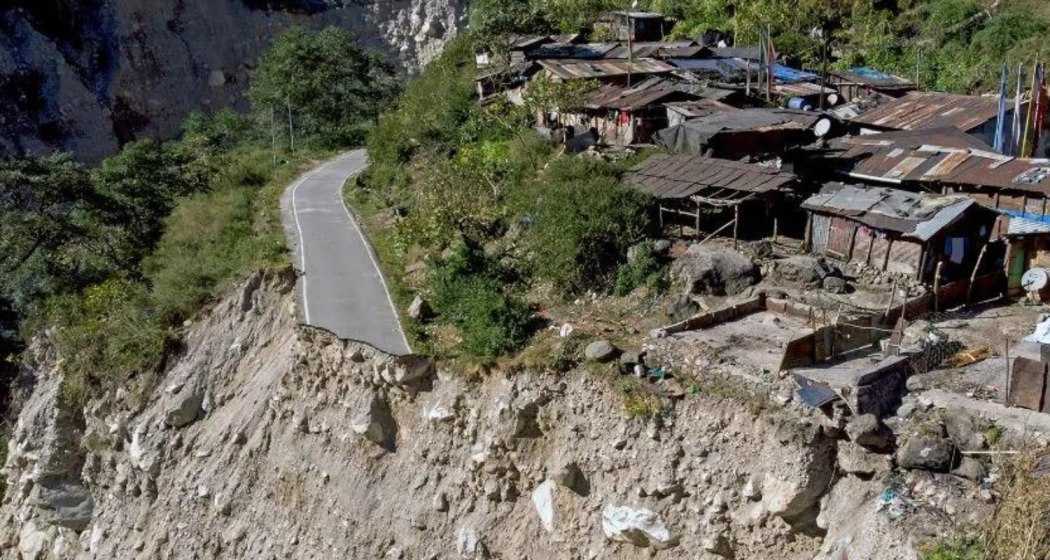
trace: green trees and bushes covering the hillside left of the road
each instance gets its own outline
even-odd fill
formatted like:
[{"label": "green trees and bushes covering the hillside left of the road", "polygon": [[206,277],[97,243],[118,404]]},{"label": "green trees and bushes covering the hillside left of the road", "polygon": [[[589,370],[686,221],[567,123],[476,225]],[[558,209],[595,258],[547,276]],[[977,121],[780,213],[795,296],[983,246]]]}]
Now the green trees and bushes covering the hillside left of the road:
[{"label": "green trees and bushes covering the hillside left of the road", "polygon": [[184,320],[231,282],[288,266],[285,186],[362,142],[396,90],[346,32],[295,28],[264,55],[248,115],[193,115],[180,140],[128,144],[93,169],[65,154],[0,162],[0,308],[23,339],[54,328],[70,400],[148,389]]}]

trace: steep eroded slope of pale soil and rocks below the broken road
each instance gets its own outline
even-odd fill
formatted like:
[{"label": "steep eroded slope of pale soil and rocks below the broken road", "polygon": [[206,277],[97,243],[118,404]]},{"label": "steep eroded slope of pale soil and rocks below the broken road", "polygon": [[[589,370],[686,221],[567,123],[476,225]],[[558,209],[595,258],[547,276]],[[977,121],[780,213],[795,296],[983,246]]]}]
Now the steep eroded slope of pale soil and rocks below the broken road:
[{"label": "steep eroded slope of pale soil and rocks below the broken road", "polygon": [[989,507],[792,403],[631,418],[587,368],[471,380],[343,343],[296,325],[293,281],[256,275],[188,326],[144,398],[70,410],[38,340],[0,555],[896,559]]}]

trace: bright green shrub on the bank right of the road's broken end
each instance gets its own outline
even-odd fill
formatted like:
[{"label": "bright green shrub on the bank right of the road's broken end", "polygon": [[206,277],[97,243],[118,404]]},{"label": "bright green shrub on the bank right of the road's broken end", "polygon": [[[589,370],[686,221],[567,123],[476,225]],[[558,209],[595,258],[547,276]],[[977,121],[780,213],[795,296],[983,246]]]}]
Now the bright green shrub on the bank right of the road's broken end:
[{"label": "bright green shrub on the bank right of the road's broken end", "polygon": [[430,272],[434,309],[460,331],[462,349],[470,355],[506,354],[531,334],[532,311],[519,296],[507,293],[501,274],[466,244]]}]

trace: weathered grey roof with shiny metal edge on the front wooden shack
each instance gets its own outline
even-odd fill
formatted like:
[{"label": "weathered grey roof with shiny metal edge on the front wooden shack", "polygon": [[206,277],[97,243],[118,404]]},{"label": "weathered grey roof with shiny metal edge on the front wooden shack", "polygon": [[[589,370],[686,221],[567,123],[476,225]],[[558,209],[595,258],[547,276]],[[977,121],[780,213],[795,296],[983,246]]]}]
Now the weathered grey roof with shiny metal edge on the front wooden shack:
[{"label": "weathered grey roof with shiny metal edge on the front wooden shack", "polygon": [[802,208],[846,216],[875,229],[896,231],[926,242],[975,204],[962,194],[928,194],[835,184],[808,198],[802,203]]}]

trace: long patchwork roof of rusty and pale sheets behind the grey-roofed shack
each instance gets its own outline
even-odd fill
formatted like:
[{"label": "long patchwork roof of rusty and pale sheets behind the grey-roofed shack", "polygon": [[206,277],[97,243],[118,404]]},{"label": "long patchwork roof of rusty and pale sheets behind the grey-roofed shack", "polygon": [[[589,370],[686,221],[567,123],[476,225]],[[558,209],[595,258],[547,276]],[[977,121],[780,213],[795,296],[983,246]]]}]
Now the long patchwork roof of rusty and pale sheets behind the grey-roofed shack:
[{"label": "long patchwork roof of rusty and pale sheets behind the grey-roofed shack", "polygon": [[833,146],[842,151],[833,159],[840,171],[858,179],[969,185],[1050,195],[1050,161],[1002,155],[982,145],[945,130],[927,136],[870,134],[835,141]]}]

